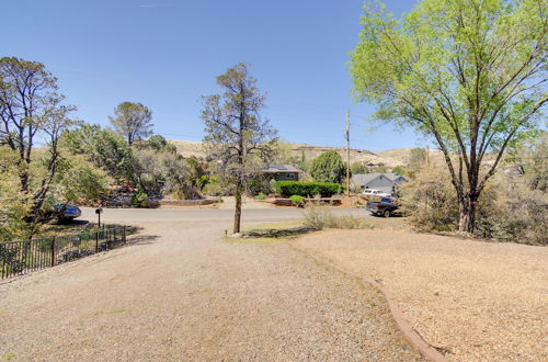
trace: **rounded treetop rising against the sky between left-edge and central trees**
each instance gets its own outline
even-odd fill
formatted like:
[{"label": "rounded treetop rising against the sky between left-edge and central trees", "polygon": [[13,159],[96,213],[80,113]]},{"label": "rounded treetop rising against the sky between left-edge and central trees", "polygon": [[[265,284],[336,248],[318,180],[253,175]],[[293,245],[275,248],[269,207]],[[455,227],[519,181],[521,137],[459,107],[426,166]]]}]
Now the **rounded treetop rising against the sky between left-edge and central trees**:
[{"label": "rounded treetop rising against the sky between left-edge and central trees", "polygon": [[141,103],[121,103],[114,109],[114,116],[109,118],[114,129],[126,138],[129,146],[138,139],[152,135],[152,111]]}]

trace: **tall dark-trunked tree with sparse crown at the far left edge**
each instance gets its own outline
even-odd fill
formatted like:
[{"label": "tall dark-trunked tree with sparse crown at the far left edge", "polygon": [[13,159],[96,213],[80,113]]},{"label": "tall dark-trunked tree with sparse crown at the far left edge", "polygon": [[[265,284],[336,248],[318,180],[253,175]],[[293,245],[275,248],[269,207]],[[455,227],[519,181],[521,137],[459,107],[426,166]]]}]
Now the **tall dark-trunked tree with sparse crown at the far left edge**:
[{"label": "tall dark-trunked tree with sparse crown at the far left edge", "polygon": [[23,218],[34,226],[46,220],[42,206],[62,160],[59,137],[77,123],[64,99],[43,64],[0,58],[0,144],[18,157],[19,190],[32,204]]}]

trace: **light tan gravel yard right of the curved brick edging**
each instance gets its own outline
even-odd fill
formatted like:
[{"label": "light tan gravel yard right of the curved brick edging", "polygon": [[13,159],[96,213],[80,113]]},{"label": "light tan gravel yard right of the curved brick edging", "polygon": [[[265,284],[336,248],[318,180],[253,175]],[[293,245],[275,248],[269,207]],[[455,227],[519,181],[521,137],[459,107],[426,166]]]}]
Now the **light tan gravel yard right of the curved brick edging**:
[{"label": "light tan gravel yard right of the curved brick edging", "polygon": [[548,248],[388,229],[327,230],[292,244],[381,283],[448,360],[548,360]]}]

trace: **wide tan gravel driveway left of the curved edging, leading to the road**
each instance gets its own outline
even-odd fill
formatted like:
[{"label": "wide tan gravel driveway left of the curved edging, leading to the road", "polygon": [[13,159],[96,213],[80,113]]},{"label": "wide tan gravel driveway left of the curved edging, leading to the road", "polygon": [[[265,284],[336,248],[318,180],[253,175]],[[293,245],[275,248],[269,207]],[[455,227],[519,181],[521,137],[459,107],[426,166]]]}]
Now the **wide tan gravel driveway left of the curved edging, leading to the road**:
[{"label": "wide tan gravel driveway left of the curved edging, leading to the road", "polygon": [[222,241],[222,217],[139,222],[127,247],[1,283],[0,359],[422,359],[370,286],[287,242]]}]

